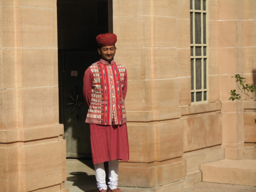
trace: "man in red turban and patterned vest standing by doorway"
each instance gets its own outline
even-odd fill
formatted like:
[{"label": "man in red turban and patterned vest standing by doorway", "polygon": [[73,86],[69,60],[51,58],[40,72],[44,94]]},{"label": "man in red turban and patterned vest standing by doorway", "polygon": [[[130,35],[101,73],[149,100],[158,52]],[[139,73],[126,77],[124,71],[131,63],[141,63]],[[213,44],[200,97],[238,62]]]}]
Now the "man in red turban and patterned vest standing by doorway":
[{"label": "man in red turban and patterned vest standing by doorway", "polygon": [[127,72],[114,61],[116,35],[96,37],[100,61],[92,64],[84,74],[84,97],[89,106],[86,123],[90,124],[92,161],[100,192],[107,190],[103,162],[108,161],[110,192],[117,188],[118,160],[129,160],[124,99],[127,91]]}]

